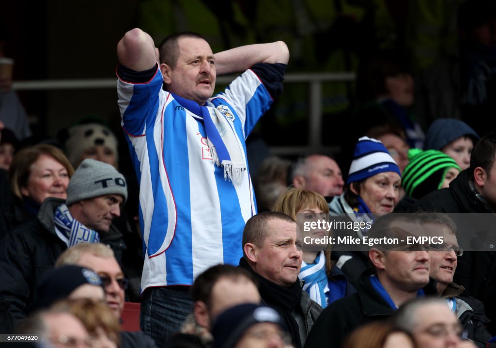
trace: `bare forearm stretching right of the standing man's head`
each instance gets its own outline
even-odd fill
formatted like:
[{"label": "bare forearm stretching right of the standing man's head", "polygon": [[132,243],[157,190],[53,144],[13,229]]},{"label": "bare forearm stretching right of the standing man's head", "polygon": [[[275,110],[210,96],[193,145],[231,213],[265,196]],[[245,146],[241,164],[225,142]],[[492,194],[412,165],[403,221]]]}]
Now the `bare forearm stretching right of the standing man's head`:
[{"label": "bare forearm stretching right of the standing man's head", "polygon": [[257,63],[288,64],[288,46],[282,41],[236,47],[216,53],[217,74],[245,71]]}]

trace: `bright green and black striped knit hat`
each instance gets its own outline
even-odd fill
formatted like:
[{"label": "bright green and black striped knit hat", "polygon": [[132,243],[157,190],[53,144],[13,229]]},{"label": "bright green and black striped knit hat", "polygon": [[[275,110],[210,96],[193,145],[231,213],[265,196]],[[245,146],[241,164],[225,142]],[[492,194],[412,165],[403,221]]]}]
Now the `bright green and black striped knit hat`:
[{"label": "bright green and black striped knit hat", "polygon": [[402,184],[407,196],[420,199],[438,190],[450,168],[461,168],[456,161],[437,150],[422,151],[413,148],[408,151],[408,165],[403,171]]}]

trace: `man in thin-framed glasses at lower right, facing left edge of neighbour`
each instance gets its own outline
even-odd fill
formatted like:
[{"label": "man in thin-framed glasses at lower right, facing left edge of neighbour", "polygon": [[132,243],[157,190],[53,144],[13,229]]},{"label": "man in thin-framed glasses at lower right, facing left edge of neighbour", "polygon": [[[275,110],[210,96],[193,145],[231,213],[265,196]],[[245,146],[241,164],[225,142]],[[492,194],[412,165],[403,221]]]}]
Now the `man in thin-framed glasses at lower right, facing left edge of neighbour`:
[{"label": "man in thin-framed glasses at lower right, facing left edge of neighbour", "polygon": [[436,281],[439,296],[445,298],[452,312],[462,324],[466,339],[473,341],[477,347],[487,347],[491,334],[486,329],[489,319],[484,305],[471,296],[462,296],[465,289],[453,282],[458,264],[458,256],[463,249],[458,246],[456,225],[448,215],[420,214],[425,230],[431,235],[443,235],[443,244],[432,244],[430,254],[430,277]]}]

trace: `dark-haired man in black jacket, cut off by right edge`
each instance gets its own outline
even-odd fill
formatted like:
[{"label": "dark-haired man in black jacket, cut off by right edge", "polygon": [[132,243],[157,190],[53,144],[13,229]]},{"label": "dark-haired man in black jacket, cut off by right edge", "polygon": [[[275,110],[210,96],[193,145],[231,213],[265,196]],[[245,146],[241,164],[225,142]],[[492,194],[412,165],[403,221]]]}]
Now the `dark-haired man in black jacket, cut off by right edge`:
[{"label": "dark-haired man in black jacket, cut off by right edge", "polygon": [[[454,281],[465,294],[481,300],[492,320],[488,330],[496,335],[496,134],[481,138],[470,158],[470,167],[450,184],[423,197],[413,210],[446,212],[458,226],[458,242],[466,251],[458,258]],[[452,214],[455,213],[455,214]],[[471,250],[468,251],[467,250]]]}]

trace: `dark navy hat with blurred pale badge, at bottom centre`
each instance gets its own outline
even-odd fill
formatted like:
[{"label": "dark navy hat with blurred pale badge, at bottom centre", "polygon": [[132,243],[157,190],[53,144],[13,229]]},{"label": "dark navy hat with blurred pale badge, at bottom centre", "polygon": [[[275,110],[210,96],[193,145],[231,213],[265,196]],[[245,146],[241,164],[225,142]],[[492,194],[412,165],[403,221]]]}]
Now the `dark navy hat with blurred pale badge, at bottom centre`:
[{"label": "dark navy hat with blurred pale badge, at bottom centre", "polygon": [[274,323],[283,331],[286,325],[273,308],[254,303],[244,303],[222,312],[212,328],[212,348],[232,348],[251,326],[258,323]]}]

